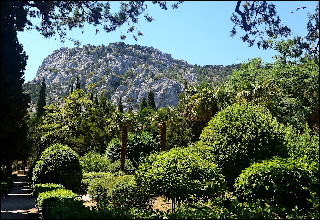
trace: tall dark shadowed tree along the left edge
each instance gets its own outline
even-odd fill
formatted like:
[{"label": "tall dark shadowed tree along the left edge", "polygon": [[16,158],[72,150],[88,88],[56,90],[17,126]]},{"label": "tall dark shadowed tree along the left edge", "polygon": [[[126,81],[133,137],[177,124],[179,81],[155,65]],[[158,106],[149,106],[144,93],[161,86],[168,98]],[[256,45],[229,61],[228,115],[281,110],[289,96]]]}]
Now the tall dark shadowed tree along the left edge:
[{"label": "tall dark shadowed tree along the left edge", "polygon": [[21,19],[26,19],[27,12],[12,4],[1,2],[1,163],[7,176],[11,176],[12,161],[27,140],[24,118],[31,102],[22,89],[28,56],[17,39],[17,31],[26,25]]}]

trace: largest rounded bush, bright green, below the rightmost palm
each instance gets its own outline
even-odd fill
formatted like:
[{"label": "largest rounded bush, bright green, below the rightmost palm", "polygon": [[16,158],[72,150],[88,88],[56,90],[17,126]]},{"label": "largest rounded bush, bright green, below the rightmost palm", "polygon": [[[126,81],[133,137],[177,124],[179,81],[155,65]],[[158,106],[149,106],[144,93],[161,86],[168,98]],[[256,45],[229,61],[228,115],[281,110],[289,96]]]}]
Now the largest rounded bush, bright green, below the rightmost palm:
[{"label": "largest rounded bush, bright green, below the rightmost palm", "polygon": [[260,106],[244,102],[233,104],[211,119],[199,144],[215,155],[228,186],[233,186],[250,160],[288,156],[280,124]]}]

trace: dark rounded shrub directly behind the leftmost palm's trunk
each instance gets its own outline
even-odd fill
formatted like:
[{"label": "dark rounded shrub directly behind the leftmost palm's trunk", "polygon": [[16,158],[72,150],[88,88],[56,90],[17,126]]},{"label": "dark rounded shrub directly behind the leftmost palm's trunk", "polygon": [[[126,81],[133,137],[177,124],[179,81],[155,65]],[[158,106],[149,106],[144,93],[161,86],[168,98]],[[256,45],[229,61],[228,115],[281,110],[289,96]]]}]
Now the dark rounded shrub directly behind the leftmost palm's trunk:
[{"label": "dark rounded shrub directly behind the leftmost palm's trunk", "polygon": [[[106,149],[106,155],[112,161],[120,159],[121,151],[121,139],[119,137],[112,139]],[[127,157],[133,162],[134,165],[139,163],[140,151],[145,155],[149,155],[151,151],[159,151],[159,145],[156,140],[152,138],[152,135],[147,132],[141,132],[139,134],[128,134],[127,142]]]}]

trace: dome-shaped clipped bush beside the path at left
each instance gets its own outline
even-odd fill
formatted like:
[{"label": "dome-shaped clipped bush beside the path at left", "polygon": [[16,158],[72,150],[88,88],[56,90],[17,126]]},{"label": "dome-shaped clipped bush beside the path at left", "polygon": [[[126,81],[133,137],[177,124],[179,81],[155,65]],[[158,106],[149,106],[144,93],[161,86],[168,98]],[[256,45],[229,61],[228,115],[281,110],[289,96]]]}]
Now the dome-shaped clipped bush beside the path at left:
[{"label": "dome-shaped clipped bush beside the path at left", "polygon": [[82,168],[79,156],[71,148],[55,144],[44,150],[33,169],[34,184],[56,183],[77,193],[80,190]]}]

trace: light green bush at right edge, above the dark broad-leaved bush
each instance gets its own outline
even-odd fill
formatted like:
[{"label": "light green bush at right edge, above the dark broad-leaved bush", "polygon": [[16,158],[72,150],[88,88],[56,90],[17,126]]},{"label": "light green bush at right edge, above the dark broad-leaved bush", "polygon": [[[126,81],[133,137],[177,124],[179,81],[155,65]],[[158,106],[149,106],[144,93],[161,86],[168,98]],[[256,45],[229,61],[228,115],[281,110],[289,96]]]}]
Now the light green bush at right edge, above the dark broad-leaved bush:
[{"label": "light green bush at right edge, above the dark broad-leaved bush", "polygon": [[306,124],[303,134],[292,125],[284,126],[285,139],[288,141],[288,153],[295,158],[307,156],[310,160],[319,163],[319,134],[311,135]]}]

